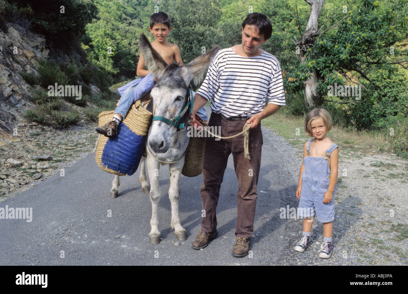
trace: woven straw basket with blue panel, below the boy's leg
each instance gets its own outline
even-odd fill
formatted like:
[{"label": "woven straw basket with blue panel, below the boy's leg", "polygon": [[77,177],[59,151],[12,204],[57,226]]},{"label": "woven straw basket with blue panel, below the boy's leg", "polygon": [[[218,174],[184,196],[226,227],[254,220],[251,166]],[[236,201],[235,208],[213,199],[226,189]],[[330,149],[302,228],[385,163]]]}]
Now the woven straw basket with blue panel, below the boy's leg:
[{"label": "woven straw basket with blue panel, below the boy's leg", "polygon": [[[98,125],[103,126],[113,117],[114,111],[104,111],[99,114]],[[131,107],[129,113],[118,126],[118,134],[115,139],[109,139],[104,135],[99,135],[95,160],[98,166],[113,175],[124,176],[132,175],[139,165],[140,158],[144,152],[146,135],[152,119],[152,113],[141,106],[140,100],[137,100]],[[119,135],[121,132],[123,135]],[[124,136],[126,135],[126,136]],[[105,148],[106,143],[114,146],[114,150]],[[135,148],[137,141],[137,148]],[[111,152],[111,153],[109,153]],[[104,163],[104,158],[113,159],[115,169],[108,168]],[[112,166],[112,163],[110,163]]]}]

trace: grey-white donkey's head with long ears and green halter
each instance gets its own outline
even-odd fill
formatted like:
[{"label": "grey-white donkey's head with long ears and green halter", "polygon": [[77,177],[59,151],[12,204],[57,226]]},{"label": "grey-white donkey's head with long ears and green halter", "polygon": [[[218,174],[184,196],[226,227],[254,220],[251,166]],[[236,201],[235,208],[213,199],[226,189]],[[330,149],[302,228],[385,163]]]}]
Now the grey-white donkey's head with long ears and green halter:
[{"label": "grey-white donkey's head with long ears and green halter", "polygon": [[[185,66],[167,65],[163,58],[152,48],[144,34],[139,38],[140,50],[147,69],[158,80],[151,90],[153,98],[153,115],[173,119],[182,113],[188,102],[188,85],[195,84],[204,77],[208,66],[217,54],[219,47],[213,47],[208,53],[200,55]],[[188,124],[189,110],[183,115],[181,122]],[[171,144],[171,138],[178,128],[166,122],[152,122],[147,144],[155,153],[165,153]],[[185,136],[186,137],[186,136]]]}]

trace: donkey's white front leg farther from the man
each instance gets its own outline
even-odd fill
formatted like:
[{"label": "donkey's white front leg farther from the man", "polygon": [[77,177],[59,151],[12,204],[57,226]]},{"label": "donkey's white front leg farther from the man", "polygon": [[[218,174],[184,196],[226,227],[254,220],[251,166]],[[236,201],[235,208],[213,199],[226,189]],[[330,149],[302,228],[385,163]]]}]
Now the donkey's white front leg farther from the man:
[{"label": "donkey's white front leg farther from the man", "polygon": [[160,162],[147,155],[147,171],[150,178],[150,201],[152,203],[152,218],[150,220],[151,231],[149,233],[150,243],[158,244],[160,242],[159,219],[157,217],[157,208],[160,201],[160,186],[159,186],[159,169]]}]

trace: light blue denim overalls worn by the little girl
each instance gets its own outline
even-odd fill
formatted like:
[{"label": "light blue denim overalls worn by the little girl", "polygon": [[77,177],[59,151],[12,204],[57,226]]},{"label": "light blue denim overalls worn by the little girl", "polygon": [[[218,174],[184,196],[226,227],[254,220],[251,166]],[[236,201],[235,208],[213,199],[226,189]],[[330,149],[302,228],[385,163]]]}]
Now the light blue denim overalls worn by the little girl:
[{"label": "light blue denim overalls worn by the little girl", "polygon": [[324,193],[327,192],[330,182],[328,157],[338,146],[333,143],[326,150],[326,157],[311,157],[310,144],[312,141],[313,139],[309,141],[306,149],[309,156],[306,156],[303,160],[305,169],[302,174],[302,191],[300,193],[298,214],[300,217],[311,217],[316,214],[320,222],[328,223],[334,220],[334,195],[337,190],[337,187],[335,187],[332,201],[323,203]]}]

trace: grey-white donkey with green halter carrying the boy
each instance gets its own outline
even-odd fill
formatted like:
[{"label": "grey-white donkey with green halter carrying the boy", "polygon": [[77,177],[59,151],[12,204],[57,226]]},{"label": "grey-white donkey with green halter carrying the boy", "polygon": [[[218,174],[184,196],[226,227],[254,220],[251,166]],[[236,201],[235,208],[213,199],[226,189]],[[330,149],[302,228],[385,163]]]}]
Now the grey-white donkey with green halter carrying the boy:
[{"label": "grey-white donkey with green halter carrying the boy", "polygon": [[[219,47],[213,47],[208,53],[196,57],[185,66],[178,66],[175,63],[167,65],[163,58],[152,48],[144,34],[140,35],[139,45],[147,69],[153,76],[158,76],[157,82],[150,92],[152,99],[150,103],[153,102],[154,117],[146,140],[147,157],[146,159],[142,157],[140,161],[139,178],[139,181],[142,183],[142,191],[147,193],[149,185],[146,181],[146,169],[144,167],[144,161],[146,160],[151,187],[149,195],[152,203],[151,231],[149,233],[150,243],[158,244],[160,242],[157,208],[161,197],[159,187],[161,164],[169,164],[170,168],[170,225],[172,229],[174,228],[177,239],[184,241],[187,239],[187,235],[186,230],[180,224],[178,200],[180,197],[180,175],[184,165],[184,155],[190,140],[187,136],[186,128],[188,126],[190,109],[187,109],[179,122],[174,122],[173,118],[180,116],[186,108],[190,81],[193,80],[195,84],[198,84],[203,79]],[[155,120],[157,117],[159,119]],[[166,119],[168,121],[172,120],[172,122],[169,124],[165,122]],[[184,127],[180,127],[182,125],[179,125],[179,123],[184,123]],[[111,197],[116,196],[118,193],[118,176],[115,176],[112,185]]]}]

